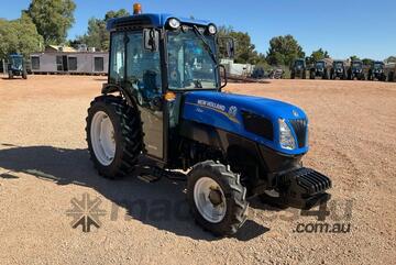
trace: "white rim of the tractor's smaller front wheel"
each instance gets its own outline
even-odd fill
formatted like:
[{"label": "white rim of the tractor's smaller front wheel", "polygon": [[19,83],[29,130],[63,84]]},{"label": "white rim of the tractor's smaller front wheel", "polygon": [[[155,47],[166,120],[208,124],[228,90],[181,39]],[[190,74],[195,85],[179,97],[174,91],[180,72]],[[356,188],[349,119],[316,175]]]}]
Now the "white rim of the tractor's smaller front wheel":
[{"label": "white rim of the tractor's smaller front wheel", "polygon": [[221,222],[227,212],[223,190],[213,179],[201,177],[194,187],[194,200],[199,213],[211,223]]}]

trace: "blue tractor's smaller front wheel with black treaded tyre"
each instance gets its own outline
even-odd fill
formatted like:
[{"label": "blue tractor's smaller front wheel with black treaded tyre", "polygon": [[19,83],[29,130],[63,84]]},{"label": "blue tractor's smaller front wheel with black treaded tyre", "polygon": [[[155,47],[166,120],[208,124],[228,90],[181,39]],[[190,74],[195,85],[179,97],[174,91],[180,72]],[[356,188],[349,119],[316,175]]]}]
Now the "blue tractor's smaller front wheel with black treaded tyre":
[{"label": "blue tractor's smaller front wheel with black treaded tyre", "polygon": [[213,161],[188,173],[187,199],[196,222],[216,236],[237,233],[248,219],[246,188],[239,175]]}]

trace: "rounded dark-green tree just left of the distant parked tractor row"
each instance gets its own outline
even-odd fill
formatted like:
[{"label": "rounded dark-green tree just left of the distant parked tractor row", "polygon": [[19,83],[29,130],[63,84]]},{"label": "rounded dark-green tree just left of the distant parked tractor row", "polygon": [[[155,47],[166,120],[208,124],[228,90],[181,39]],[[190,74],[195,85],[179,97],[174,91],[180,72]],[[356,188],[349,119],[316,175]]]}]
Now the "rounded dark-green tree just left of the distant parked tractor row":
[{"label": "rounded dark-green tree just left of the distant parked tractor row", "polygon": [[290,65],[296,58],[304,58],[302,47],[292,35],[276,36],[270,41],[267,63],[270,65]]}]

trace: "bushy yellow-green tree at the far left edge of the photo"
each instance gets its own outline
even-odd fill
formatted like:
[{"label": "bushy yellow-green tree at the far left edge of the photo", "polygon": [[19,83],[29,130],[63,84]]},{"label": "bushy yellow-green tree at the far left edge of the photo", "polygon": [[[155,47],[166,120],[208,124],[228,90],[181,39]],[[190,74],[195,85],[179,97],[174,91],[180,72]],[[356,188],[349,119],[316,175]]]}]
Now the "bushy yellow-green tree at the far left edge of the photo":
[{"label": "bushy yellow-green tree at the far left edge of the photo", "polygon": [[41,52],[42,43],[43,37],[25,12],[18,20],[0,20],[0,58],[12,53],[29,57],[33,52]]}]

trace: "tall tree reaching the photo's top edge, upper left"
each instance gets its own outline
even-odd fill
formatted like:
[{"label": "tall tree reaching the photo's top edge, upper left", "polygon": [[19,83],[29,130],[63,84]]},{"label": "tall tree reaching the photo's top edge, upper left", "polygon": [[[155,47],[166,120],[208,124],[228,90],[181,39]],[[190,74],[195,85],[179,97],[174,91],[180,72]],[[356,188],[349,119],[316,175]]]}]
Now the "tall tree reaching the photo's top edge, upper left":
[{"label": "tall tree reaching the photo's top edge, upper left", "polygon": [[73,0],[32,0],[28,13],[44,37],[45,45],[62,44],[75,22]]}]

